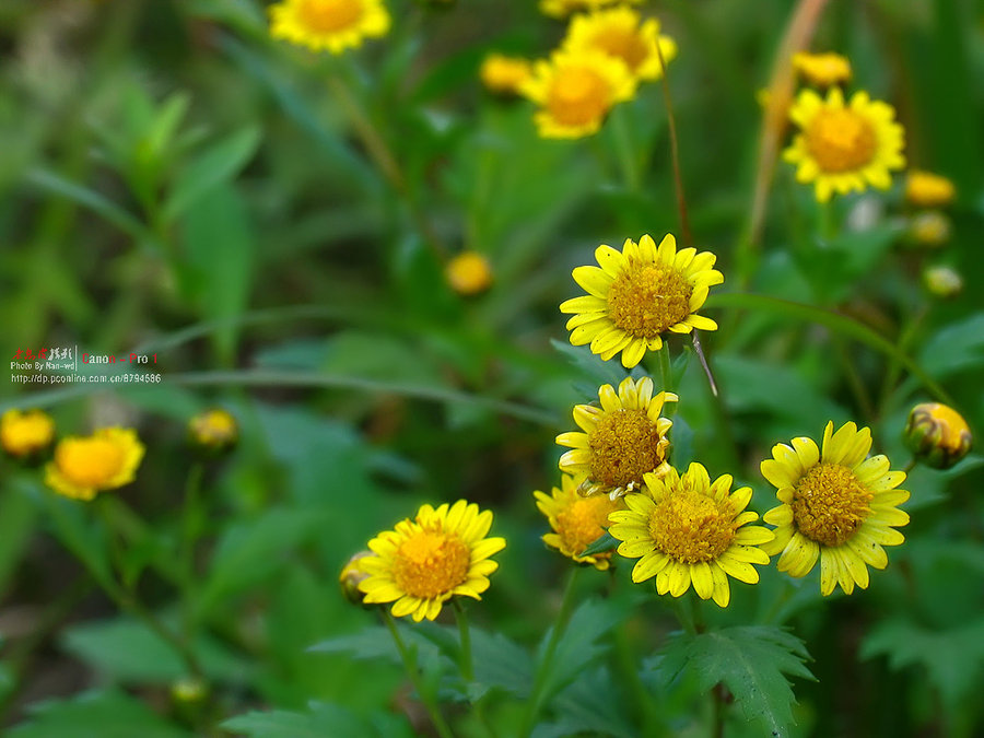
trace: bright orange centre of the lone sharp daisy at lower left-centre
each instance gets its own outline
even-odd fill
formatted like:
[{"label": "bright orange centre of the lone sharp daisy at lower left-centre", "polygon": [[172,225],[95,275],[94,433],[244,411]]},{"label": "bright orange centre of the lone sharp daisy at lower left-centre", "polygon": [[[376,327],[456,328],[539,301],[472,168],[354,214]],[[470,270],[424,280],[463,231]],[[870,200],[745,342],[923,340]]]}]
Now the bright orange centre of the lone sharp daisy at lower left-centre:
[{"label": "bright orange centre of the lone sharp daisy at lower left-centre", "polygon": [[471,552],[456,535],[421,529],[397,549],[394,581],[408,595],[433,599],[465,584],[470,564]]}]

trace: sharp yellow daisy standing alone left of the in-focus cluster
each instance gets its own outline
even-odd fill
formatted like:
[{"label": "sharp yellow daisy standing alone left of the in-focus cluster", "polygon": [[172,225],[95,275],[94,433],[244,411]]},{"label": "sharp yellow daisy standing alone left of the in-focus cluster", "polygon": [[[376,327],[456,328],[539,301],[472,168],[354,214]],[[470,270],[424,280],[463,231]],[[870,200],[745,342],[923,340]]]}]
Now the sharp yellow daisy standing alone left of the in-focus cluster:
[{"label": "sharp yellow daisy standing alone left of the in-focus cluster", "polygon": [[368,542],[375,554],[360,560],[368,577],[359,583],[366,605],[393,602],[397,618],[434,620],[452,597],[481,599],[499,564],[489,557],[505,548],[504,538],[485,538],[491,511],[459,500],[434,509],[423,505]]}]

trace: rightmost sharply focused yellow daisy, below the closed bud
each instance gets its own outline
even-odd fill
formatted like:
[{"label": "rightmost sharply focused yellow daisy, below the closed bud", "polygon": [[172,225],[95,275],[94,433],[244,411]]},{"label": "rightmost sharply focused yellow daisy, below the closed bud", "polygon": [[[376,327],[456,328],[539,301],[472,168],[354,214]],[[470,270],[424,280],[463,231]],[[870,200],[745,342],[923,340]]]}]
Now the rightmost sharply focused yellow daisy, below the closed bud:
[{"label": "rightmost sharply focused yellow daisy, below the closed bud", "polygon": [[764,546],[780,555],[778,570],[806,576],[820,559],[820,591],[827,596],[840,583],[851,594],[854,585],[868,586],[868,570],[885,569],[882,546],[899,546],[902,534],[893,526],[909,523],[898,505],[909,492],[895,489],[904,471],[889,471],[885,456],[866,458],[871,432],[845,423],[836,433],[833,422],[823,431],[822,450],[811,438],[776,444],[762,461],[762,476],[776,489],[782,503],[762,519],[777,526],[775,540]]}]

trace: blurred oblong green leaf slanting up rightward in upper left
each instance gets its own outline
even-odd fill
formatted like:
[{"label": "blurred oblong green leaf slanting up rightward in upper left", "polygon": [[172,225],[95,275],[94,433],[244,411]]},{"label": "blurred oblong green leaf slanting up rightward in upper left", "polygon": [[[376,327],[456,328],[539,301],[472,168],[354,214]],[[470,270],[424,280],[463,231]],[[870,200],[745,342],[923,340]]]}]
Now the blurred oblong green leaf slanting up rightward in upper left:
[{"label": "blurred oblong green leaf slanting up rightward in upper left", "polygon": [[213,144],[186,166],[164,204],[165,222],[184,213],[213,187],[233,179],[253,159],[259,142],[259,128],[247,126]]}]

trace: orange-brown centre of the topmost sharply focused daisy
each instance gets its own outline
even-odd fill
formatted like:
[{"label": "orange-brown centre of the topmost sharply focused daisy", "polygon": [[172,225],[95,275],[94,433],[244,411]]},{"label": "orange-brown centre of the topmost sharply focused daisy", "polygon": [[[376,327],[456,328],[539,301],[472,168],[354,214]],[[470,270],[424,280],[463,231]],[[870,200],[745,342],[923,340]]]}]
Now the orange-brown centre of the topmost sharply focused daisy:
[{"label": "orange-brown centre of the topmost sharply focused daisy", "polygon": [[693,285],[672,267],[630,265],[608,289],[611,321],[636,338],[653,338],[690,314]]}]

